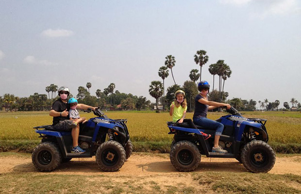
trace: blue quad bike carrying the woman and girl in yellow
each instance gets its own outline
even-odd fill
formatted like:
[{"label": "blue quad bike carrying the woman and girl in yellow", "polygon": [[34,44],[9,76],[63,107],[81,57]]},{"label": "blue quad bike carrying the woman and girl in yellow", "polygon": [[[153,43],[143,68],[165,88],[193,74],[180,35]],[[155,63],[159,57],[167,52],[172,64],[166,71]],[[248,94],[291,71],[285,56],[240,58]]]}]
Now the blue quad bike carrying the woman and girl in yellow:
[{"label": "blue quad bike carrying the woman and girl in yellow", "polygon": [[[170,162],[177,170],[195,170],[201,161],[201,154],[211,158],[235,158],[253,173],[266,173],[272,169],[275,164],[275,152],[267,144],[267,120],[245,118],[233,107],[227,109],[227,112],[230,115],[217,119],[217,122],[224,125],[219,146],[228,151],[226,154],[211,150],[215,130],[197,126],[191,119],[184,119],[183,123],[167,122],[169,134],[174,134]],[[201,131],[211,134],[211,137],[204,140]]]}]

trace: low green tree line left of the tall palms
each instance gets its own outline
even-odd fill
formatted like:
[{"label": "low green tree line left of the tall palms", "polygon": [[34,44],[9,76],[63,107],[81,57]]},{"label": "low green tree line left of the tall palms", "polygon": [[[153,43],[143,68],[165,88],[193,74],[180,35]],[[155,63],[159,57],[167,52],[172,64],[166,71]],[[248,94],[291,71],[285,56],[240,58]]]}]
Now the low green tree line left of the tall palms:
[{"label": "low green tree line left of the tall palms", "polygon": [[[92,84],[87,82],[86,88],[78,87],[78,94],[70,97],[76,97],[79,103],[100,107],[102,110],[151,110],[153,104],[150,100],[143,96],[134,96],[133,94],[120,93],[115,90],[115,83],[103,89],[97,89],[96,96],[90,94]],[[34,93],[30,97],[16,97],[12,94],[4,94],[0,96],[0,107],[5,111],[48,111],[52,103],[59,98],[57,95],[58,86],[50,84],[45,88],[46,94]],[[51,95],[50,95],[51,93]]]}]

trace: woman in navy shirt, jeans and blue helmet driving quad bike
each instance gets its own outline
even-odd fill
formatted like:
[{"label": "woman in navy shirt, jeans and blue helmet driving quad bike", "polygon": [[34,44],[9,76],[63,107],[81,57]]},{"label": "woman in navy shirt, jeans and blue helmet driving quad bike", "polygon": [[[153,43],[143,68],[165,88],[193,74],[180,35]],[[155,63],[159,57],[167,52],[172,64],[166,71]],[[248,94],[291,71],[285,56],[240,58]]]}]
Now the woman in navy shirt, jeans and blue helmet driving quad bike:
[{"label": "woman in navy shirt, jeans and blue helmet driving quad bike", "polygon": [[209,93],[210,85],[207,81],[201,81],[198,85],[198,89],[200,91],[200,94],[198,94],[195,98],[195,111],[193,114],[193,122],[196,125],[200,125],[205,129],[216,129],[212,152],[227,153],[227,150],[224,150],[223,148],[221,148],[221,146],[218,146],[218,141],[220,135],[223,132],[224,125],[217,121],[208,119],[207,112],[208,110],[216,109],[217,107],[221,106],[226,106],[227,109],[230,109],[231,105],[208,101],[207,95]]}]

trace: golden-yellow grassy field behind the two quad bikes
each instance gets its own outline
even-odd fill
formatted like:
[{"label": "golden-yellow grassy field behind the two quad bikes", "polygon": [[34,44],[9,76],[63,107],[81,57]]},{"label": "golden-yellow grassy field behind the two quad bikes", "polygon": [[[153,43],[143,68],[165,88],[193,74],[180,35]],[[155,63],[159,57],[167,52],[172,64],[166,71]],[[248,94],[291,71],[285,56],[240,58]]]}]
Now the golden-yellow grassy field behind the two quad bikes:
[{"label": "golden-yellow grassy field behind the two quad bikes", "polygon": [[[107,112],[110,118],[128,119],[131,139],[136,142],[171,141],[168,135],[167,121],[171,120],[168,113],[151,112]],[[208,118],[217,119],[225,113],[209,113]],[[93,113],[81,113],[86,118],[94,117]],[[17,118],[16,118],[17,116]],[[187,113],[192,118],[193,113]],[[268,119],[266,124],[271,143],[301,144],[301,113],[282,112],[245,112],[245,117]],[[0,112],[0,140],[36,140],[38,135],[33,127],[50,125],[52,117],[48,112]]]}]

